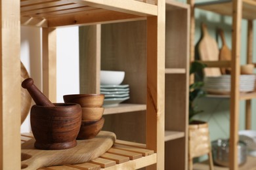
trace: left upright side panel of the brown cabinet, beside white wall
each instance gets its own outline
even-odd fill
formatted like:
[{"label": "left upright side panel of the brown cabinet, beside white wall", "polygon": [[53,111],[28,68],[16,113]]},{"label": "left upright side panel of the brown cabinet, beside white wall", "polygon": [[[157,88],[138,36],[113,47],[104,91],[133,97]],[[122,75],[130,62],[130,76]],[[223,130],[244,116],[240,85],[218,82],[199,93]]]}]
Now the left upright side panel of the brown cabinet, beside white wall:
[{"label": "left upright side panel of the brown cabinet, beside white wall", "polygon": [[101,25],[79,27],[79,83],[81,93],[100,93],[100,43]]}]

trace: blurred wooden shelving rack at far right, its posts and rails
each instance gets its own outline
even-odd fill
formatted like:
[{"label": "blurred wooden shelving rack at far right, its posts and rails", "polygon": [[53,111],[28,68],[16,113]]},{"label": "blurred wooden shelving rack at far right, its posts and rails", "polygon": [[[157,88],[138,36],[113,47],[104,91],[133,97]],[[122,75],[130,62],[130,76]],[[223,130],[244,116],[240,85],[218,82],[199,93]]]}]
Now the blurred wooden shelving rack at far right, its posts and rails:
[{"label": "blurred wooden shelving rack at far right, its posts and rails", "polygon": [[[230,164],[229,169],[238,169],[238,123],[239,123],[239,103],[240,100],[246,101],[245,128],[251,128],[251,99],[255,98],[255,92],[240,93],[240,40],[241,40],[241,20],[248,21],[247,29],[247,63],[253,63],[252,42],[253,42],[253,20],[256,18],[256,2],[253,0],[237,1],[207,1],[207,3],[195,3],[194,0],[188,1],[191,6],[191,30],[190,47],[194,48],[194,9],[209,10],[218,14],[232,16],[232,59],[231,61],[207,61],[211,67],[231,67],[231,92],[230,92]],[[194,59],[194,50],[190,51],[192,60]],[[216,97],[216,96],[215,96]],[[227,97],[227,96],[226,96]]]}]

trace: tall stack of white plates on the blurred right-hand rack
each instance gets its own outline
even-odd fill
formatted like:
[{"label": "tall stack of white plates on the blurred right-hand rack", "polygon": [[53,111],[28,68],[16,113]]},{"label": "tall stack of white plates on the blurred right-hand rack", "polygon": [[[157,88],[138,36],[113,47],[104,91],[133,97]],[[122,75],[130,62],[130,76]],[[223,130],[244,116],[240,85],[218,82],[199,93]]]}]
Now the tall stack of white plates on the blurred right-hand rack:
[{"label": "tall stack of white plates on the blurred right-hand rack", "polygon": [[[205,76],[204,90],[208,93],[230,93],[230,75]],[[255,75],[240,75],[240,92],[253,92],[255,88]]]}]

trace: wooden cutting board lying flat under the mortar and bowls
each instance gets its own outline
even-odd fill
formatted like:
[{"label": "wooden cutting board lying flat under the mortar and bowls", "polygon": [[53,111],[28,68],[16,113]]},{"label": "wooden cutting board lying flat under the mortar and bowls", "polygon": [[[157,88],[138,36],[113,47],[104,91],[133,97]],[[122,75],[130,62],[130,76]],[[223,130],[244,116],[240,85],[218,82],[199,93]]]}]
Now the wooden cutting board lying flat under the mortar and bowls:
[{"label": "wooden cutting board lying flat under the mortar and bowls", "polygon": [[39,150],[31,139],[22,144],[22,169],[35,170],[51,165],[83,163],[104,154],[116,141],[115,133],[100,131],[93,139],[77,140],[77,146],[64,150]]}]

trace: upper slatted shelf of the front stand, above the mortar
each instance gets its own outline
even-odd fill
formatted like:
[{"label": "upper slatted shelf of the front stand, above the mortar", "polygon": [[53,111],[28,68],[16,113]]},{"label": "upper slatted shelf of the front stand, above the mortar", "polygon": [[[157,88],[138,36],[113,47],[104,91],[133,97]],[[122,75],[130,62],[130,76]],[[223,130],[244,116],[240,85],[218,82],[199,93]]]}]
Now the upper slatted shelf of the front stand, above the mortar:
[{"label": "upper slatted shelf of the front stand, above the mortar", "polygon": [[[124,5],[125,3],[125,5]],[[154,0],[21,0],[22,25],[60,27],[141,20],[157,16]]]}]

